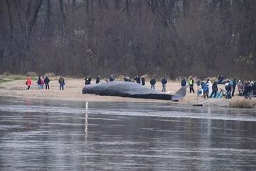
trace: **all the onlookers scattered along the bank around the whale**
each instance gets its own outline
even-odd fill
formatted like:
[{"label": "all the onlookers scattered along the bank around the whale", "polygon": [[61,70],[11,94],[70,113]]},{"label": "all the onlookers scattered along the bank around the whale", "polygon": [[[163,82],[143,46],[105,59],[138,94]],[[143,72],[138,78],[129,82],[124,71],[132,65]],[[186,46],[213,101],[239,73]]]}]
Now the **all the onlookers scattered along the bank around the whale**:
[{"label": "all the onlookers scattered along the bank around the whale", "polygon": [[[113,82],[114,76],[110,75],[109,79],[105,79],[105,82]],[[92,78],[90,75],[85,77],[85,85],[91,84]],[[65,85],[65,79],[63,79],[62,76],[58,79],[58,82],[60,84],[60,90],[64,90],[64,85]],[[142,84],[143,86],[145,85],[146,79],[145,76],[142,75],[142,77],[139,77],[138,75],[134,77],[134,81],[132,81],[128,76],[124,77],[124,82],[136,82],[137,84]],[[198,81],[199,82],[199,81]],[[49,86],[50,79],[48,77],[38,77],[38,81],[36,84],[38,85],[37,89],[43,89],[45,86],[46,89],[50,89]],[[97,76],[96,78],[96,84],[100,83],[100,75]],[[156,79],[154,77],[151,77],[149,81],[151,85],[151,89],[155,89],[155,84],[156,84]],[[27,90],[30,89],[31,87],[31,78],[28,77],[26,81]],[[165,77],[162,77],[161,79],[161,84],[162,84],[162,89],[161,92],[166,92],[166,84],[167,80]],[[185,87],[187,84],[185,77],[181,80],[181,87]],[[199,83],[197,83],[199,86]],[[218,84],[225,84],[225,89],[218,89]],[[251,99],[252,96],[256,96],[256,82],[242,82],[241,80],[236,81],[236,79],[233,80],[226,80],[224,79],[223,75],[218,75],[218,81],[213,82],[213,84],[210,82],[210,79],[206,79],[206,81],[203,81],[200,83],[201,88],[198,90],[198,94],[201,91],[203,94],[203,98],[217,98],[220,96],[225,96],[226,99],[232,99],[232,96],[235,94],[235,89],[238,87],[238,92],[239,96],[245,96],[246,99]],[[195,93],[195,90],[193,89],[194,86],[194,80],[193,77],[190,77],[188,79],[188,87],[189,87],[189,92],[190,93]],[[219,92],[218,92],[219,91]]]}]

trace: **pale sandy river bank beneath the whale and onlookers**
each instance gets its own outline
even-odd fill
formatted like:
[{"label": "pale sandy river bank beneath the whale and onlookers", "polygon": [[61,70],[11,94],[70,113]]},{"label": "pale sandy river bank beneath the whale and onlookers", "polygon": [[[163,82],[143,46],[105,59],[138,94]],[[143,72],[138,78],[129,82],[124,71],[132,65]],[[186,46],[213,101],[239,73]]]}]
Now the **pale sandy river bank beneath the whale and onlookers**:
[{"label": "pale sandy river bank beneath the whale and onlookers", "polygon": [[[68,99],[79,101],[138,101],[138,102],[161,102],[161,103],[178,103],[178,104],[194,104],[197,101],[202,101],[202,96],[196,96],[197,86],[194,84],[195,93],[189,93],[187,89],[186,96],[182,101],[173,102],[166,100],[156,99],[134,99],[119,96],[99,96],[95,94],[82,94],[82,87],[85,86],[83,79],[65,79],[64,90],[59,90],[58,79],[50,81],[50,89],[38,90],[36,81],[32,81],[31,89],[26,90],[26,80],[14,80],[11,82],[4,82],[0,84],[0,96],[15,96],[15,97],[29,97],[29,98],[43,98],[43,99]],[[92,84],[95,84],[95,79],[92,79]],[[146,87],[150,87],[149,82],[146,82]],[[224,89],[224,85],[218,85],[219,88]],[[171,82],[170,80],[166,84],[166,92],[176,92],[181,88],[180,82]],[[156,82],[156,89],[161,91],[161,82]],[[235,92],[238,94],[238,92]],[[242,96],[234,96],[234,99],[242,99]]]}]

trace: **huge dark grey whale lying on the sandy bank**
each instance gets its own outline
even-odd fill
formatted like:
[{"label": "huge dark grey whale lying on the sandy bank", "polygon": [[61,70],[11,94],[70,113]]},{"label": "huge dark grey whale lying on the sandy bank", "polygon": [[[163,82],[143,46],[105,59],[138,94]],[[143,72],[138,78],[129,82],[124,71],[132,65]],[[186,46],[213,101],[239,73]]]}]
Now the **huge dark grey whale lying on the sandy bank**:
[{"label": "huge dark grey whale lying on the sandy bank", "polygon": [[178,101],[186,96],[186,87],[176,92],[176,94],[164,94],[155,89],[149,89],[135,82],[100,82],[99,84],[90,84],[82,88],[82,94],[97,94],[100,96],[122,96],[142,99],[162,99]]}]

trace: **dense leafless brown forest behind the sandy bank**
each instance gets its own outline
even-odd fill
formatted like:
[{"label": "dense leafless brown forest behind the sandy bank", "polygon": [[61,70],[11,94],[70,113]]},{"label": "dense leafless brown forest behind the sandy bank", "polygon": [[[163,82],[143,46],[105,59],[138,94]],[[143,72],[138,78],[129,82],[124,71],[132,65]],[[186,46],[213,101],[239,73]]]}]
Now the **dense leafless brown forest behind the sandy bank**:
[{"label": "dense leafless brown forest behind the sandy bank", "polygon": [[256,1],[0,0],[0,73],[252,79]]}]

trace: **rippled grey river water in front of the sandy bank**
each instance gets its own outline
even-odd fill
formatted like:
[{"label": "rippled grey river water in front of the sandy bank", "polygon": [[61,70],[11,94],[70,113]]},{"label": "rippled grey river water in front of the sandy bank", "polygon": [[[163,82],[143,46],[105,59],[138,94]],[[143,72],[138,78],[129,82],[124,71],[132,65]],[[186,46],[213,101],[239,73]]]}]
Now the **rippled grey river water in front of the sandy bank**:
[{"label": "rippled grey river water in front of the sandy bank", "polygon": [[0,97],[0,152],[0,170],[256,170],[256,110]]}]

